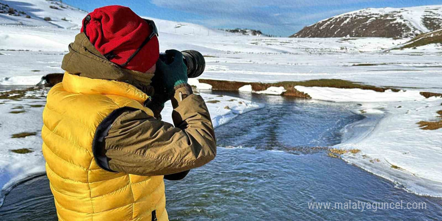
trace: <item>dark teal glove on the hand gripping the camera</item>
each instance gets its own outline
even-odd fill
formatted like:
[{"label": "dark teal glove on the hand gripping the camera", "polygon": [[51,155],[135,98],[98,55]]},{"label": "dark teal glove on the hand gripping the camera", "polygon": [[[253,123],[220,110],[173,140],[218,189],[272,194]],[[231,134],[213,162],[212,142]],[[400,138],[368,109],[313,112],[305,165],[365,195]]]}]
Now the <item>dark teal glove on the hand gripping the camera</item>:
[{"label": "dark teal glove on the hand gripping the camera", "polygon": [[157,61],[155,74],[162,77],[166,93],[173,92],[173,88],[179,84],[187,83],[187,67],[183,61],[183,54],[177,50],[167,50],[168,57],[173,57],[170,64],[165,64],[161,59]]}]

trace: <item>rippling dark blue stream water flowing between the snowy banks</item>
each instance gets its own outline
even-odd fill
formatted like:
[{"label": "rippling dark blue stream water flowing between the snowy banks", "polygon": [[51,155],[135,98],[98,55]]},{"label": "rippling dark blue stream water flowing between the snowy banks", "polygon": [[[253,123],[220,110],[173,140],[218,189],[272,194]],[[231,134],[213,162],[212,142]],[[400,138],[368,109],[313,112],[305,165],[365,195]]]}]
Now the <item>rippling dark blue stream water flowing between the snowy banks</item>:
[{"label": "rippling dark blue stream water flowing between the snowy banks", "polygon": [[[226,93],[224,93],[226,94]],[[229,94],[266,103],[218,127],[218,154],[182,181],[166,181],[171,220],[440,220],[442,199],[405,192],[324,147],[361,119],[347,104]],[[426,209],[309,209],[309,202],[424,202]],[[45,176],[14,188],[0,220],[54,220]]]}]

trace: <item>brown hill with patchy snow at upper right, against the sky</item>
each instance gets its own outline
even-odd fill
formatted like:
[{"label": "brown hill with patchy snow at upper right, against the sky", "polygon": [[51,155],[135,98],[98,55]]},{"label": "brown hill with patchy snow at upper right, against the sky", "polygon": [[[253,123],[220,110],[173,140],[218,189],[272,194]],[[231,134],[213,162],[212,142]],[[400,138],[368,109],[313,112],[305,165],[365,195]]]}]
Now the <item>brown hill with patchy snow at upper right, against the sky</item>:
[{"label": "brown hill with patchy snow at upper right, against the sky", "polygon": [[442,28],[442,5],[363,9],[317,22],[290,37],[414,37]]}]

